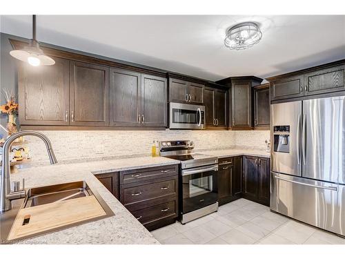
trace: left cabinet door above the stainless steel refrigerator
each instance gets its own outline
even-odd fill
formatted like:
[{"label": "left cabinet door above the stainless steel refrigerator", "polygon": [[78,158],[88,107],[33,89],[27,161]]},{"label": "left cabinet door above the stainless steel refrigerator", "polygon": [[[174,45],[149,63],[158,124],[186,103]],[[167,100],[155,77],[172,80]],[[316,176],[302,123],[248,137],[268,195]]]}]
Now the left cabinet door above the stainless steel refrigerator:
[{"label": "left cabinet door above the stainless steel refrigerator", "polygon": [[303,75],[273,81],[270,84],[271,101],[303,96],[303,82]]}]

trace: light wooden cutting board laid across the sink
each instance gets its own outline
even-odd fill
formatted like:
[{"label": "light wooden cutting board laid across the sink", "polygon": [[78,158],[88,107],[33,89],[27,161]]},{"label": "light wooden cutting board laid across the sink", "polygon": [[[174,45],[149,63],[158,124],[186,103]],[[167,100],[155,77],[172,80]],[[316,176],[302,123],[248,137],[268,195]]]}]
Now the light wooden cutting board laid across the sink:
[{"label": "light wooden cutting board laid across the sink", "polygon": [[[8,240],[106,215],[94,195],[21,209]],[[24,219],[28,224],[23,224]],[[30,218],[30,220],[27,220]]]}]

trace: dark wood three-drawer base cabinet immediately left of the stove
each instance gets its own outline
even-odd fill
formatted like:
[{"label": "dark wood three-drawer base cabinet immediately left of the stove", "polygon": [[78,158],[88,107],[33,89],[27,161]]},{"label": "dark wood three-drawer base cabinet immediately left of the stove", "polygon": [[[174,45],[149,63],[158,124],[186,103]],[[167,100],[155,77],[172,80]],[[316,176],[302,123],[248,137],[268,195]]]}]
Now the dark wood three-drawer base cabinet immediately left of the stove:
[{"label": "dark wood three-drawer base cabinet immediately left of the stove", "polygon": [[178,166],[120,172],[120,202],[149,231],[177,220]]}]

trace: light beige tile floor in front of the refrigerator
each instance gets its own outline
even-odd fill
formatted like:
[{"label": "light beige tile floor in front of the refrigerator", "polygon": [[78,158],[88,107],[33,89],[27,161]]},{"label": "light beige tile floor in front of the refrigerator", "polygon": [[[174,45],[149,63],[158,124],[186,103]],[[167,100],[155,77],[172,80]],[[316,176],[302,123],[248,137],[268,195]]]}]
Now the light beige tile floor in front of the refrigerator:
[{"label": "light beige tile floor in front of the refrigerator", "polygon": [[162,244],[345,244],[345,238],[239,199],[185,225],[151,232]]}]

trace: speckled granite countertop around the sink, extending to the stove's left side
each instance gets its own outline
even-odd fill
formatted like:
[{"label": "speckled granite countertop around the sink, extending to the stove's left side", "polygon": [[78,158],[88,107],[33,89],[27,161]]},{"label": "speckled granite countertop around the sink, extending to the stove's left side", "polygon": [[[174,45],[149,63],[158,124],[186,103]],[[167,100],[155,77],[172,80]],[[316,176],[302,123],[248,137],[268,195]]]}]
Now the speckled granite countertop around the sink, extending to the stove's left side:
[{"label": "speckled granite countertop around the sink, extending to the stove's left side", "polygon": [[11,180],[25,178],[26,188],[85,180],[92,190],[101,195],[101,198],[115,213],[110,218],[30,238],[24,240],[23,243],[159,244],[151,233],[95,178],[94,174],[169,164],[179,164],[179,161],[164,157],[135,157],[101,162],[32,167],[11,174]]}]

